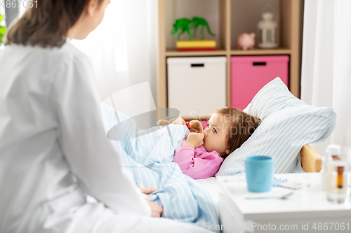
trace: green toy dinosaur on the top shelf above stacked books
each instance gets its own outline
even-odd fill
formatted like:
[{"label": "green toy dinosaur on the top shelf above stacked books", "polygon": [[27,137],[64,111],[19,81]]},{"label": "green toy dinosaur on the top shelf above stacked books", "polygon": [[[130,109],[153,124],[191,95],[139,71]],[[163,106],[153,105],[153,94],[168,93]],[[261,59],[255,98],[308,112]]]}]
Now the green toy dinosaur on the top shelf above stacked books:
[{"label": "green toy dinosaur on the top shelf above stacked books", "polygon": [[[177,40],[180,40],[180,36],[187,32],[189,35],[189,41],[192,40],[192,38],[196,37],[197,34],[197,27],[201,27],[201,40],[204,40],[204,28],[207,28],[208,34],[211,36],[216,36],[215,34],[212,33],[210,27],[208,26],[207,21],[203,17],[193,17],[192,20],[189,20],[188,18],[184,17],[182,19],[176,20],[176,22],[173,24],[173,29],[171,31],[171,34],[174,35],[176,34],[179,30],[180,32],[178,33]],[[190,29],[194,29],[193,34],[190,33]]]}]

